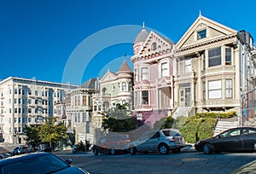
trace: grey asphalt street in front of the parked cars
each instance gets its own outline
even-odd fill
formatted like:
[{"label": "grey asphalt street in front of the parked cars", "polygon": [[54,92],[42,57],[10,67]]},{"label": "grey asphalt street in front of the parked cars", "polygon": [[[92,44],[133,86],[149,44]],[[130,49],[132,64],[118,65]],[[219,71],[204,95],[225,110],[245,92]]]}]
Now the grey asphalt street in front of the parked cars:
[{"label": "grey asphalt street in front of the parked cars", "polygon": [[184,152],[180,154],[57,154],[62,159],[73,159],[73,165],[91,174],[130,173],[218,173],[234,171],[254,159],[254,153],[202,154]]}]

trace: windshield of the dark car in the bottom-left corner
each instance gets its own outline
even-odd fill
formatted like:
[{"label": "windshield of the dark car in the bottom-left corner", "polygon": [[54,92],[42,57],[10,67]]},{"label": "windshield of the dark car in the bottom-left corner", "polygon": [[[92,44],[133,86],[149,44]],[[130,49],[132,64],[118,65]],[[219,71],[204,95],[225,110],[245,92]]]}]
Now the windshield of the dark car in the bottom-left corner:
[{"label": "windshield of the dark car in the bottom-left corner", "polygon": [[3,166],[3,174],[16,174],[20,171],[25,173],[43,174],[43,173],[53,173],[55,171],[61,171],[67,168],[65,162],[58,159],[52,154],[38,156],[32,159],[24,159],[17,163]]}]

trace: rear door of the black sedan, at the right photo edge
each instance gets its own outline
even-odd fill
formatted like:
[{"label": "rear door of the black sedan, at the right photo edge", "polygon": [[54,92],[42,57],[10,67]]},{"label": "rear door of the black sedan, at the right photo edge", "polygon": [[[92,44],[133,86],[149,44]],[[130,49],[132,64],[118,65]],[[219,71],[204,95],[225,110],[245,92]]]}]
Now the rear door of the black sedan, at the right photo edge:
[{"label": "rear door of the black sedan, at the right photo edge", "polygon": [[256,143],[256,129],[242,128],[241,140],[243,150],[254,150],[254,145]]}]

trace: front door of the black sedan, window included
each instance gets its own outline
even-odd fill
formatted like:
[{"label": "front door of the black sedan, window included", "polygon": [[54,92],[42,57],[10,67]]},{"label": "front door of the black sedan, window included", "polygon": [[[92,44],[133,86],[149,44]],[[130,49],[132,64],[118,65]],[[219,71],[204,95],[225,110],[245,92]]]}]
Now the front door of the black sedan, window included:
[{"label": "front door of the black sedan, window included", "polygon": [[215,138],[213,145],[216,151],[236,151],[241,150],[242,142],[240,128],[224,131]]}]

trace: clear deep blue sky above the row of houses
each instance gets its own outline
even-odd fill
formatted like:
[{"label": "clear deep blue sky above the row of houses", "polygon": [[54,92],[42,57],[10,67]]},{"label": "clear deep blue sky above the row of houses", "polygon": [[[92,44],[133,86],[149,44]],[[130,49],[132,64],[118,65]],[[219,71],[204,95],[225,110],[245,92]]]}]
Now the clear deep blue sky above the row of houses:
[{"label": "clear deep blue sky above the row of houses", "polygon": [[[146,26],[177,43],[200,9],[207,18],[237,31],[244,29],[256,39],[255,7],[253,0],[1,0],[0,79],[35,77],[62,82],[68,60],[84,39],[112,26],[142,26],[145,21]],[[131,40],[135,36],[131,34]],[[106,39],[98,38],[97,42]],[[86,53],[84,48],[80,61],[90,61],[82,78],[73,74],[71,84],[82,84],[98,75],[102,78],[108,68],[117,71],[125,54],[129,61],[132,44],[114,44],[93,57]]]}]

